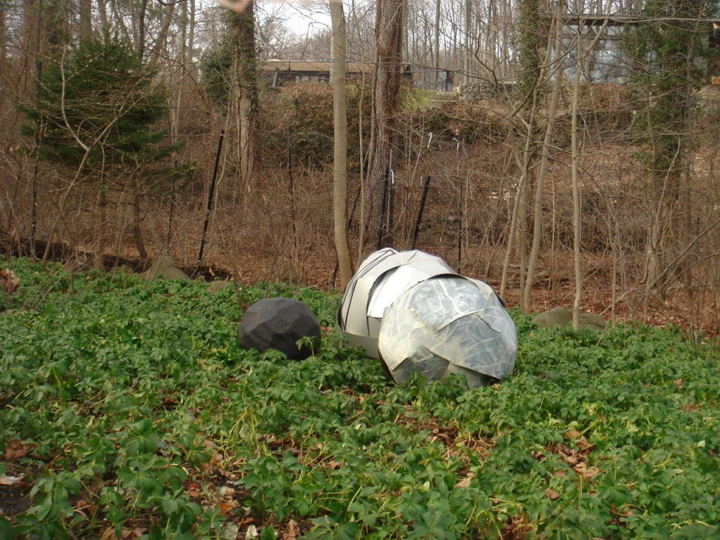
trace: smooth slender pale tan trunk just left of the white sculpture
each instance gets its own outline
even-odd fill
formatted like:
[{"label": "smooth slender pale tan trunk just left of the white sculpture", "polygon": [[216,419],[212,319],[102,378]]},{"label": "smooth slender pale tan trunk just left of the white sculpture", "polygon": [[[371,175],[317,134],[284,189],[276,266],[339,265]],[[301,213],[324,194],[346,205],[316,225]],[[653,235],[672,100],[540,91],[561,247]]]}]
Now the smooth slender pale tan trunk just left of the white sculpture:
[{"label": "smooth slender pale tan trunk just left of the white sculpture", "polygon": [[346,103],[347,32],[343,4],[330,1],[333,22],[333,66],[330,84],[333,86],[333,220],[335,250],[338,254],[340,288],[350,281],[352,266],[348,246],[348,114]]}]

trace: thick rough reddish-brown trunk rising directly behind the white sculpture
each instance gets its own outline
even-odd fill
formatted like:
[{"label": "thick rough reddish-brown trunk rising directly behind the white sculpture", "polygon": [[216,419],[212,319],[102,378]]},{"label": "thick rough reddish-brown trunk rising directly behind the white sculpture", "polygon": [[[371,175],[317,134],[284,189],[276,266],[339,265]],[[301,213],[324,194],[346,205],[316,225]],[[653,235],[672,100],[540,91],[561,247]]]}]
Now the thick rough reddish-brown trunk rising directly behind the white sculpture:
[{"label": "thick rough reddish-brown trunk rising directly behind the white sculpture", "polygon": [[390,231],[383,230],[383,202],[390,154],[395,148],[397,112],[400,108],[402,73],[402,12],[405,0],[378,0],[375,19],[375,73],[367,174],[366,238],[377,246],[388,245]]}]

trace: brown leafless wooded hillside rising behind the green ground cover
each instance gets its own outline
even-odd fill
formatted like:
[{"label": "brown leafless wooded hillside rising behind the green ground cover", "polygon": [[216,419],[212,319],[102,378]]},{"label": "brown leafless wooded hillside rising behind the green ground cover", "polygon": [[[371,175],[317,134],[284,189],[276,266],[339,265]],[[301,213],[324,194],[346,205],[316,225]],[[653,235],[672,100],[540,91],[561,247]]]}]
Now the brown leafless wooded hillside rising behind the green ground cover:
[{"label": "brown leafless wooded hillside rising behind the green ground cover", "polygon": [[[341,287],[330,88],[256,69],[328,61],[332,31],[225,4],[1,4],[6,253]],[[716,6],[606,4],[397,3],[397,109],[374,116],[377,73],[348,84],[354,267],[377,227],[523,312],[717,333]],[[347,58],[377,67],[365,8],[346,9]]]}]

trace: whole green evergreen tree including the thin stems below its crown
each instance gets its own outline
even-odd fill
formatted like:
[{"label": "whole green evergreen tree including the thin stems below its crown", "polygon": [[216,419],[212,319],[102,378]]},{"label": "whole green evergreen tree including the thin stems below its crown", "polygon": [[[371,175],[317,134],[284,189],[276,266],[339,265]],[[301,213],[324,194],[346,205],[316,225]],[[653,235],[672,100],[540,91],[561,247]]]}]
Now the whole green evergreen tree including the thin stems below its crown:
[{"label": "whole green evergreen tree including the thin stems below its crown", "polygon": [[[106,230],[109,204],[132,207],[130,230],[138,255],[148,258],[140,231],[143,201],[151,190],[186,176],[189,166],[171,163],[179,144],[167,143],[156,129],[166,120],[166,94],[154,82],[155,72],[143,65],[130,43],[105,36],[82,41],[63,53],[42,73],[30,107],[23,112],[33,127],[37,157],[71,174],[50,218],[48,248],[58,224],[66,219],[66,203],[77,186],[96,189],[95,264],[100,266],[113,231]],[[114,196],[109,195],[114,190]],[[34,230],[34,229],[33,229]],[[119,231],[117,234],[122,234]],[[114,238],[120,246],[122,236]],[[45,251],[43,258],[48,256]]]}]

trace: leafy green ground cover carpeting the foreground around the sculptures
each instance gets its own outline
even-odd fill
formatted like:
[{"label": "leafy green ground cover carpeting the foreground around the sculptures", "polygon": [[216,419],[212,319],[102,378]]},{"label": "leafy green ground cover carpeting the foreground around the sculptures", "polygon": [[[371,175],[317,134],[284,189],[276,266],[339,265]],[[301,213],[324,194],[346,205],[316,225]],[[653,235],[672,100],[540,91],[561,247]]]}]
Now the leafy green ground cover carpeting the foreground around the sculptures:
[{"label": "leafy green ground cover carpeting the foreground around the sculptures", "polygon": [[[395,386],[336,292],[8,265],[4,538],[720,538],[716,343],[513,313],[504,382]],[[323,326],[306,361],[238,347],[280,295]]]}]

